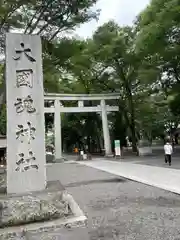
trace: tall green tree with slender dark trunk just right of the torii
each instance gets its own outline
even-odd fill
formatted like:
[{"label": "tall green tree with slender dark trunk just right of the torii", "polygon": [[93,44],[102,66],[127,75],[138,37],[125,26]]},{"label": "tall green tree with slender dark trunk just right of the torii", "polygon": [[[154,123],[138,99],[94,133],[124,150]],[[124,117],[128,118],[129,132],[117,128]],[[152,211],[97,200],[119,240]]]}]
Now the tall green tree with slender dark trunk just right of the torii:
[{"label": "tall green tree with slender dark trunk just right of the torii", "polygon": [[107,80],[114,82],[114,91],[120,94],[120,111],[130,129],[133,150],[137,151],[135,99],[137,92],[141,91],[142,60],[135,52],[135,39],[133,28],[121,28],[114,22],[101,26],[93,36],[95,58],[103,67],[108,67]]}]

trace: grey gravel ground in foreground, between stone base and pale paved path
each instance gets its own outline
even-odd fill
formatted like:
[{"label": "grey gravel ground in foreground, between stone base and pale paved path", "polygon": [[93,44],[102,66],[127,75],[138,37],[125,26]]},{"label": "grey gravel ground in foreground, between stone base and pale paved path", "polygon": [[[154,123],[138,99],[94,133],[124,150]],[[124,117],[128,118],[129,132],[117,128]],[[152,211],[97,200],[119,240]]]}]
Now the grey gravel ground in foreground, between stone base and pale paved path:
[{"label": "grey gravel ground in foreground, between stone base and pale paved path", "polygon": [[79,165],[48,166],[88,216],[91,240],[180,240],[180,196]]}]

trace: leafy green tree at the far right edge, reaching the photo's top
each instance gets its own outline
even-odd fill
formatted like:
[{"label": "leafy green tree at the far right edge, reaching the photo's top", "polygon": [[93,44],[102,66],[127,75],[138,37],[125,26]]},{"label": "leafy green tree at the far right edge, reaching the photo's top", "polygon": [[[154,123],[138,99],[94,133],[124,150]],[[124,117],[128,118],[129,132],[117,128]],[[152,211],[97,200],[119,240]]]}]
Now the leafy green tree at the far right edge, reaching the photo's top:
[{"label": "leafy green tree at the far right edge, reaching the photo's top", "polygon": [[[138,16],[136,50],[160,70],[154,80],[162,90],[177,121],[180,89],[180,4],[178,0],[152,0]],[[171,98],[171,99],[170,99]]]}]

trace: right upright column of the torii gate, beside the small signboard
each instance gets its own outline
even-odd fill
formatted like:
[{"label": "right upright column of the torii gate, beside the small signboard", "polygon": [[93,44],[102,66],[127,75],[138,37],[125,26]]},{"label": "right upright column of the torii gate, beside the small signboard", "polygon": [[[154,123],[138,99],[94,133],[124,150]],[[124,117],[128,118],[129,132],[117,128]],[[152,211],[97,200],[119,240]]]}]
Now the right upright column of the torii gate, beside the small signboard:
[{"label": "right upright column of the torii gate, beside the small signboard", "polygon": [[104,148],[105,148],[105,155],[111,156],[111,140],[109,134],[109,126],[108,126],[108,119],[107,119],[107,111],[106,111],[106,103],[105,100],[101,100],[101,109],[102,109],[102,126],[103,126],[103,136],[104,136]]}]

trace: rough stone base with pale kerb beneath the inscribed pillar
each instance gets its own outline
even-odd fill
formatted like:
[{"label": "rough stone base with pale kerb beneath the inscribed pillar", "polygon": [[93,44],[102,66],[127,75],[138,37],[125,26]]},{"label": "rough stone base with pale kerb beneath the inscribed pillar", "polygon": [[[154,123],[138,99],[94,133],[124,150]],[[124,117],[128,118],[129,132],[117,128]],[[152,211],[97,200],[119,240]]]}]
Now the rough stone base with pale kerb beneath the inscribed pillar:
[{"label": "rough stone base with pale kerb beneath the inscribed pillar", "polygon": [[1,196],[1,240],[53,240],[58,236],[79,240],[87,233],[87,218],[59,181],[49,182],[42,192]]}]

